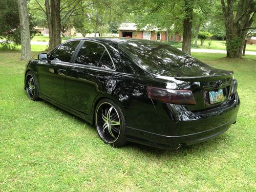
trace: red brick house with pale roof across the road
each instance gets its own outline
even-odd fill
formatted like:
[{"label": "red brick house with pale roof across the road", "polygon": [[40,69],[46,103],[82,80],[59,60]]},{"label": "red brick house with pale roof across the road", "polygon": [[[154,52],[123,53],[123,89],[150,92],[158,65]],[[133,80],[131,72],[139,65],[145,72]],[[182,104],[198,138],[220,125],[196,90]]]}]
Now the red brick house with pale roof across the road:
[{"label": "red brick house with pale roof across the road", "polygon": [[[122,23],[119,28],[119,37],[149,39],[149,40],[167,40],[166,30],[158,30],[156,27],[148,28],[144,27],[141,30],[137,30],[135,23]],[[170,37],[170,40],[173,36]],[[177,33],[177,41],[181,41],[181,36]]]}]

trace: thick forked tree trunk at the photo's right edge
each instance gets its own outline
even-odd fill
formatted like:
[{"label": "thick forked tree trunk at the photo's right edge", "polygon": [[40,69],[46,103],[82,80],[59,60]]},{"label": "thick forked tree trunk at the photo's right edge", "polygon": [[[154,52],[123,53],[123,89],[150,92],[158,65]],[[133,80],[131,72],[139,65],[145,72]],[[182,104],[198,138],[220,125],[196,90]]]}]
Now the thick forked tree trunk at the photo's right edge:
[{"label": "thick forked tree trunk at the photo's right edge", "polygon": [[227,57],[241,58],[243,43],[255,19],[256,2],[254,0],[221,0],[226,27]]}]

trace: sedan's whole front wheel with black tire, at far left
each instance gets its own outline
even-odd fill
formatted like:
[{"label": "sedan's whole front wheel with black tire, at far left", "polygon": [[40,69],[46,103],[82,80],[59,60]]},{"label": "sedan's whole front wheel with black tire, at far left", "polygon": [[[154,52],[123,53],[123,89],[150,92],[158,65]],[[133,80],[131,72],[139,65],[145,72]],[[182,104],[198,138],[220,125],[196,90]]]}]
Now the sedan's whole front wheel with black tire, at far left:
[{"label": "sedan's whole front wheel with black tire, at far left", "polygon": [[37,79],[36,79],[36,76],[31,71],[29,71],[26,74],[25,90],[29,99],[33,101],[40,100]]}]

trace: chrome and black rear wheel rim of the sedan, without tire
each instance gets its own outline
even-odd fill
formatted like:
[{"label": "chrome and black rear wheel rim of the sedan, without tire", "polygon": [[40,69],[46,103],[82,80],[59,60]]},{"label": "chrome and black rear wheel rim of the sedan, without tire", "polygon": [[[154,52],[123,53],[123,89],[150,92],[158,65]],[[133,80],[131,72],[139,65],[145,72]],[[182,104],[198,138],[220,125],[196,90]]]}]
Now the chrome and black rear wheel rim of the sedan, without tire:
[{"label": "chrome and black rear wheel rim of the sedan, without tire", "polygon": [[96,127],[100,137],[106,143],[114,143],[121,129],[120,117],[115,107],[109,102],[103,102],[96,111]]}]

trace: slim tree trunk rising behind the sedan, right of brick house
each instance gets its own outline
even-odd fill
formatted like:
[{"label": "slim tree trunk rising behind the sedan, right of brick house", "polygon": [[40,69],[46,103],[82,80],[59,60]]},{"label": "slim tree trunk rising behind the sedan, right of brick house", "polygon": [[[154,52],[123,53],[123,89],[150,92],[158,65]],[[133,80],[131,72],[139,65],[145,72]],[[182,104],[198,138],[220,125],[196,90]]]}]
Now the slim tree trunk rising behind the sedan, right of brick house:
[{"label": "slim tree trunk rising behind the sedan, right of brick house", "polygon": [[182,51],[189,55],[192,37],[193,1],[185,0],[185,18],[183,20]]}]

